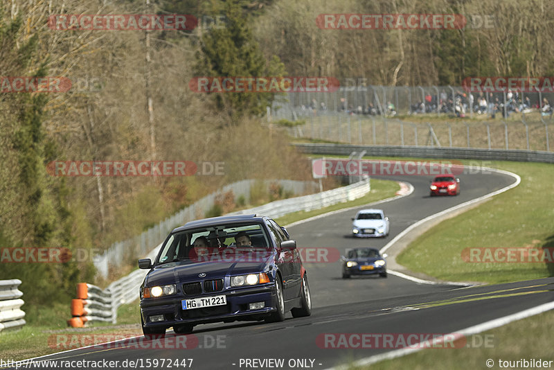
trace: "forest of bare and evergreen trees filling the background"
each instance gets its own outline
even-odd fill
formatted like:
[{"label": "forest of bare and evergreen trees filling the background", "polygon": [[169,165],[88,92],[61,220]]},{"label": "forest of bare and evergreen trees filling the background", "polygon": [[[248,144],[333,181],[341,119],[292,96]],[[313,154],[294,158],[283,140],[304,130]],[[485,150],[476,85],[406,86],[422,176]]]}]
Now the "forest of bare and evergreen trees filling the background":
[{"label": "forest of bare and evergreen trees filling the background", "polygon": [[[460,85],[467,76],[553,76],[545,0],[4,0],[0,76],[69,78],[66,92],[0,93],[0,247],[103,249],[223,184],[310,179],[260,124],[274,94],[197,94],[194,76],[333,76],[371,85]],[[323,30],[323,13],[490,16],[494,27]],[[187,14],[194,30],[56,30],[53,15]],[[224,24],[206,24],[223,16]],[[224,176],[53,177],[51,161],[224,161]],[[42,276],[30,301],[73,294],[89,263],[3,264]],[[28,291],[27,290],[27,291]]]}]

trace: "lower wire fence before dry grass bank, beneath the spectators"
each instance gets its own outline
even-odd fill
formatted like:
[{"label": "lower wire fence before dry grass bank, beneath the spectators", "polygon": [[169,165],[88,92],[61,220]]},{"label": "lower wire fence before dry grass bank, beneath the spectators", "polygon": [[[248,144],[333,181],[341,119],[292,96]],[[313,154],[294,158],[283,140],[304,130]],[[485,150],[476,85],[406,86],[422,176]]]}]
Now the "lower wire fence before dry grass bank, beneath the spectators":
[{"label": "lower wire fence before dry grass bank, beneath the spectators", "polygon": [[[483,148],[551,151],[550,120],[410,122],[383,116],[325,114],[286,127],[290,136],[338,143],[439,148]],[[529,117],[528,117],[529,118]]]}]

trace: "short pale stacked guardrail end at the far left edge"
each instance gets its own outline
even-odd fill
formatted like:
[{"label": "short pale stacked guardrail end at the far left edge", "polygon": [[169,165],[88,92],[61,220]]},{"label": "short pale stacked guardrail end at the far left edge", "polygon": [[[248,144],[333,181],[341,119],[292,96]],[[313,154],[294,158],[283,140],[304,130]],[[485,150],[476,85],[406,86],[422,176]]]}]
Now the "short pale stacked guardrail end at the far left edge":
[{"label": "short pale stacked guardrail end at the far left edge", "polygon": [[26,324],[25,312],[21,310],[25,301],[20,298],[23,292],[17,288],[19,284],[19,279],[0,280],[0,332]]}]

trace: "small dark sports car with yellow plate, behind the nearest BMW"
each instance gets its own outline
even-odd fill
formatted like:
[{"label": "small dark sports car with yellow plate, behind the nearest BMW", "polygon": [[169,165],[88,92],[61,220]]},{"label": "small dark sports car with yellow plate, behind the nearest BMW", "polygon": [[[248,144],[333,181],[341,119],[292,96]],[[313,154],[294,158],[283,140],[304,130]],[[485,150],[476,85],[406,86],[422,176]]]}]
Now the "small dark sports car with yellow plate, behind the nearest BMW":
[{"label": "small dark sports car with yellow plate, behind the nearest BMW", "polygon": [[373,275],[386,278],[386,253],[381,255],[379,249],[356,248],[348,251],[348,256],[342,258],[342,277],[351,275]]}]

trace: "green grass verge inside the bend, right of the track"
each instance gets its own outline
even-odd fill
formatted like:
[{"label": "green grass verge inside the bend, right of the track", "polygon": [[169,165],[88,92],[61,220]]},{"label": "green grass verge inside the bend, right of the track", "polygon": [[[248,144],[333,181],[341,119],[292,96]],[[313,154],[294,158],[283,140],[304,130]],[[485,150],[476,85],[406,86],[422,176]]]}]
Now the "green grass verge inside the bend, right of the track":
[{"label": "green grass verge inside the bend, right of the track", "polygon": [[404,249],[398,263],[447,281],[493,284],[554,276],[554,263],[472,263],[462,258],[466,248],[554,247],[553,165],[493,161],[490,166],[517,173],[521,184],[441,222]]}]

